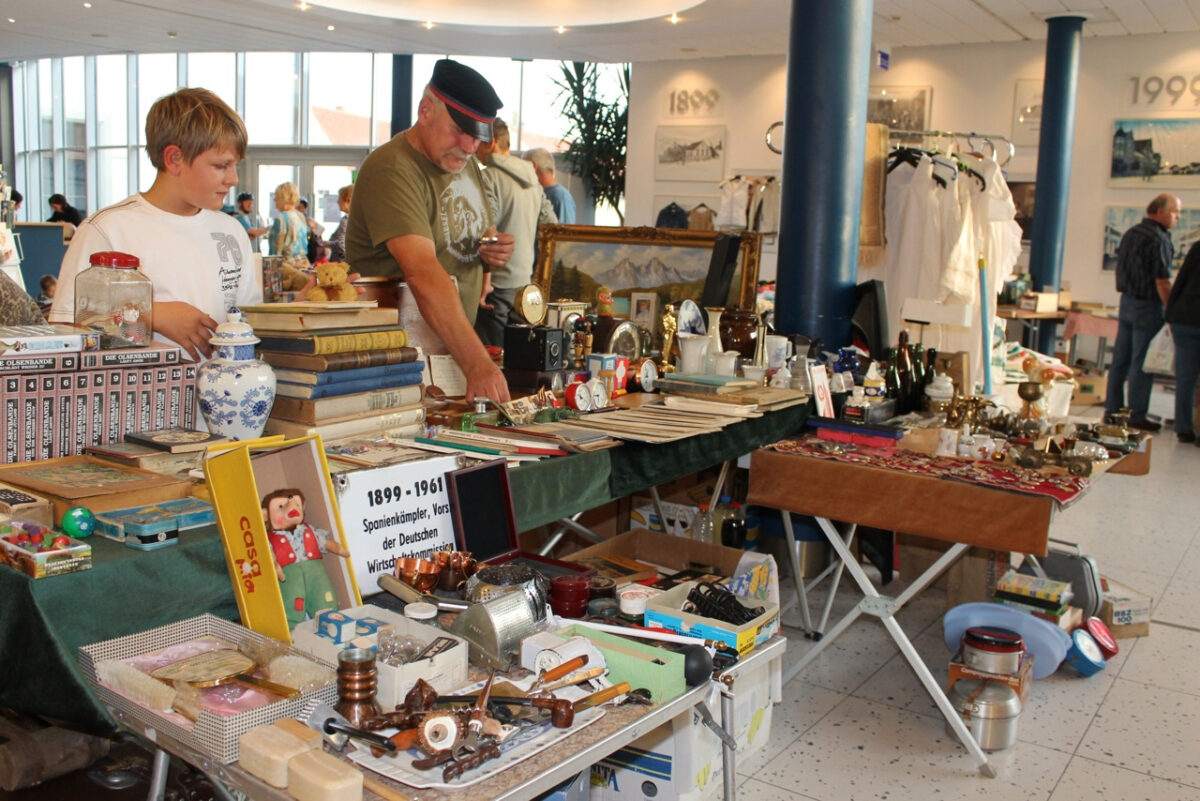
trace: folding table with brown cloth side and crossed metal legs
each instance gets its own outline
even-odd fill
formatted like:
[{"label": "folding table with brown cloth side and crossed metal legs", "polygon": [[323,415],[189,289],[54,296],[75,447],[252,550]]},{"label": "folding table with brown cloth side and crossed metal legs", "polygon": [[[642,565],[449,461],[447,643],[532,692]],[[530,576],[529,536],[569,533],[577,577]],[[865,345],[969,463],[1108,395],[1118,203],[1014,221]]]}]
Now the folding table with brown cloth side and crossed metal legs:
[{"label": "folding table with brown cloth side and crossed metal legs", "polygon": [[[786,444],[780,445],[786,447]],[[1044,555],[1050,520],[1058,501],[1050,494],[1025,494],[984,483],[938,477],[936,471],[906,471],[898,469],[895,463],[890,468],[883,468],[871,464],[869,458],[839,462],[805,454],[802,447],[792,450],[796,452],[784,453],[770,448],[754,452],[750,458],[748,502],[815,517],[841,562],[838,567],[839,576],[840,571],[848,571],[864,597],[804,655],[785,676],[785,681],[803,670],[859,615],[875,615],[895,640],[959,740],[979,764],[980,772],[995,776],[979,743],[950,706],[946,693],[900,628],[895,614],[971,546]],[[1086,483],[1073,487],[1081,492]],[[785,514],[784,520],[788,547],[794,553],[790,516]],[[832,520],[848,524],[846,532],[840,532]],[[953,544],[924,573],[916,577],[901,595],[893,598],[875,589],[850,550],[857,525],[917,534]],[[796,572],[793,565],[793,573]],[[798,590],[803,591],[799,586]]]}]

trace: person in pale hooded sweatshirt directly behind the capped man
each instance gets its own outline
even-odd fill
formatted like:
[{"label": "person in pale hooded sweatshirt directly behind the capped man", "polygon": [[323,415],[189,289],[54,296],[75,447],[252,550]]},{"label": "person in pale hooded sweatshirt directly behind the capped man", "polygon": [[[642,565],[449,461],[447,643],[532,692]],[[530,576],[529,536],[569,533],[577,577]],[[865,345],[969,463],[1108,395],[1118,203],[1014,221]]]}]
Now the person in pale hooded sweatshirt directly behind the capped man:
[{"label": "person in pale hooded sweatshirt directly behind the capped man", "polygon": [[[496,227],[512,234],[512,258],[484,277],[475,333],[485,345],[504,344],[504,326],[524,320],[514,312],[517,291],[533,277],[538,225],[557,223],[558,217],[538,181],[536,168],[509,152],[509,126],[497,118],[492,140],[481,141],[475,158],[487,165],[484,189]],[[491,281],[488,281],[491,278]]]}]

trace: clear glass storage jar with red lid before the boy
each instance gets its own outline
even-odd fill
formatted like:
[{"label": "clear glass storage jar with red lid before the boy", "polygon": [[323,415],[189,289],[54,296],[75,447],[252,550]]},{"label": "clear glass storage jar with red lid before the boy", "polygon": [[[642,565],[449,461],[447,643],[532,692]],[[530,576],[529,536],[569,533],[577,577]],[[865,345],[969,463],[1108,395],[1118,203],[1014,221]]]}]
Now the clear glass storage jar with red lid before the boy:
[{"label": "clear glass storage jar with red lid before the boy", "polygon": [[138,257],[101,251],[76,276],[76,325],[100,333],[100,347],[144,348],[154,339],[154,283]]}]

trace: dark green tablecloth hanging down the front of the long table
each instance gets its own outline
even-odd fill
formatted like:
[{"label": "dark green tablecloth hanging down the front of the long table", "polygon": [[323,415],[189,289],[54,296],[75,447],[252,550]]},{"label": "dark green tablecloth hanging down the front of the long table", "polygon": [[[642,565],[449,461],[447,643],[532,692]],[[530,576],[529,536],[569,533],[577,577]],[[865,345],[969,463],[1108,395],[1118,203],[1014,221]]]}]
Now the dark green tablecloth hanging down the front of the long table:
[{"label": "dark green tablecloth hanging down the front of the long table", "polygon": [[[696,472],[774,442],[804,423],[794,406],[666,445],[625,444],[510,472],[521,531]],[[91,570],[31,579],[0,566],[0,706],[112,727],[79,671],[80,645],[194,618],[238,619],[216,526],[142,552],[92,537]]]}]

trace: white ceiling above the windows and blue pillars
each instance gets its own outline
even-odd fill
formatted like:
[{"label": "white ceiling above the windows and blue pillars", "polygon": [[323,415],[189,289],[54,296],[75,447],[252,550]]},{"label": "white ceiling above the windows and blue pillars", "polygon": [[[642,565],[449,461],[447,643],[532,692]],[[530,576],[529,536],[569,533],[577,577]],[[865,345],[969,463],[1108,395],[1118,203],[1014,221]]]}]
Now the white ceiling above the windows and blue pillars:
[{"label": "white ceiling above the windows and blue pillars", "polygon": [[[682,20],[496,26],[503,2],[472,0],[480,25],[436,25],[295,0],[0,0],[0,61],[102,53],[371,50],[583,61],[658,61],[787,52],[787,0],[680,0]],[[382,0],[380,0],[382,1]],[[462,5],[466,0],[442,0]],[[606,0],[556,0],[596,6]],[[840,2],[841,0],[810,0]],[[319,2],[319,0],[310,0]],[[524,0],[509,0],[521,6]],[[694,6],[694,7],[688,7]],[[1200,0],[876,0],[871,38],[892,47],[1044,40],[1046,14],[1091,14],[1086,36],[1200,30]],[[12,20],[12,22],[10,22]],[[329,30],[332,25],[334,30]]]}]

